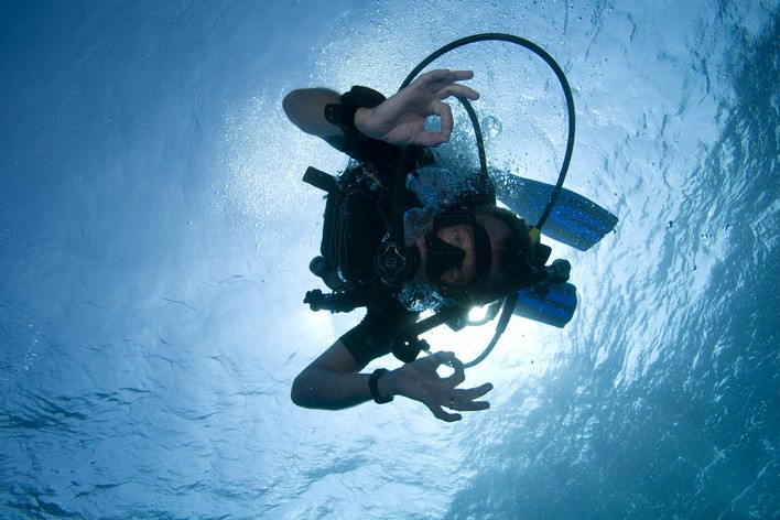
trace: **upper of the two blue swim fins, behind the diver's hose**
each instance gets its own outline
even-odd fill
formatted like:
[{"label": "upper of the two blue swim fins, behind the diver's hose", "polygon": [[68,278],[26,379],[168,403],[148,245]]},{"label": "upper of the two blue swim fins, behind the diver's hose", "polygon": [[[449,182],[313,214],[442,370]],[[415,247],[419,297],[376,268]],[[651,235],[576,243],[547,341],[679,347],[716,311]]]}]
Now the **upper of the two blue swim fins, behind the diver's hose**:
[{"label": "upper of the two blue swim fins, behind the diver's hose", "polygon": [[[509,173],[490,172],[496,198],[529,224],[535,225],[555,188],[552,184],[532,181]],[[593,201],[571,189],[559,194],[542,234],[581,251],[587,251],[617,225],[618,218]]]}]

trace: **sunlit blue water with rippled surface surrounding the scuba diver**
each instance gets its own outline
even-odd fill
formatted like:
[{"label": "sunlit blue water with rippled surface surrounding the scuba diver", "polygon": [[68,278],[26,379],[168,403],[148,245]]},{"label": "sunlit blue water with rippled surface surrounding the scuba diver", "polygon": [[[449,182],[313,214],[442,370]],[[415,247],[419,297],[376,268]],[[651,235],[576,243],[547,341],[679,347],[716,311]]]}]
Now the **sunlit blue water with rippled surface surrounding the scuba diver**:
[{"label": "sunlit blue water with rippled surface surrounding the scuba diver", "polygon": [[[779,518],[777,0],[324,3],[0,1],[0,517]],[[295,408],[358,316],[301,303],[323,202],[300,177],[345,161],[281,98],[391,93],[487,31],[561,63],[567,186],[620,218],[554,245],[577,314],[514,319],[467,372],[492,408],[457,424]],[[440,65],[475,69],[492,165],[554,177],[543,64]]]}]

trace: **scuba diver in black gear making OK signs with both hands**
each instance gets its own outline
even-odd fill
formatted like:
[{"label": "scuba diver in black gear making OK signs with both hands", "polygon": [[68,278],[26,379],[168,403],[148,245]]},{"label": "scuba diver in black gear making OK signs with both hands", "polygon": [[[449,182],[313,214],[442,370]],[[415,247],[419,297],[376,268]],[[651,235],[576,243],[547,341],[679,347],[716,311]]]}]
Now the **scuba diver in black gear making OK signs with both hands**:
[{"label": "scuba diver in black gear making OK signs with both hands", "polygon": [[[440,420],[459,421],[457,412],[489,408],[480,398],[492,384],[459,388],[465,381],[464,364],[453,353],[418,358],[427,345],[409,332],[422,323],[421,311],[440,312],[447,316],[440,322],[451,325],[457,314],[446,314],[449,310],[489,304],[509,294],[517,302],[523,291],[555,285],[571,286],[562,294],[572,296],[573,313],[574,288],[564,283],[568,262],[545,267],[550,248],[539,242],[539,230],[496,205],[495,181],[500,175],[489,176],[483,167],[422,225],[403,218],[425,206],[412,186],[425,172],[436,172],[432,147],[449,140],[453,113],[445,100],[479,97],[461,83],[472,77],[469,71],[432,71],[390,98],[360,86],[344,95],[325,88],[297,89],[284,98],[284,112],[293,124],[351,158],[338,177],[313,167],[304,176],[327,192],[321,256],[310,269],[333,291],[310,291],[304,302],[315,311],[366,308],[357,326],[295,378],[291,391],[295,404],[339,410],[371,400],[388,403],[402,396],[421,402]],[[426,123],[430,117],[440,120],[438,130]],[[505,181],[511,184],[517,178]],[[528,183],[533,194],[548,186]],[[507,183],[501,186],[508,189]],[[565,189],[562,195],[584,199]],[[361,372],[391,353],[404,364],[394,370]],[[440,376],[442,365],[453,373]]]}]

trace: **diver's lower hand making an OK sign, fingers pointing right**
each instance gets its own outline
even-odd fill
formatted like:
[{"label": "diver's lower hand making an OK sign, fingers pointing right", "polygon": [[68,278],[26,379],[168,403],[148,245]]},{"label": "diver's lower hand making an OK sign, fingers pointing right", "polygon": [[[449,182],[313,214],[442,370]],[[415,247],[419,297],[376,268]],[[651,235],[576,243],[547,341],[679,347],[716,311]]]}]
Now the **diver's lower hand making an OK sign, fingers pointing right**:
[{"label": "diver's lower hand making an OK sign, fingers pointing right", "polygon": [[[455,372],[446,378],[436,373],[441,365],[448,365]],[[459,413],[447,413],[443,407],[458,411],[485,410],[490,408],[487,401],[475,401],[492,390],[492,384],[485,383],[476,388],[455,388],[466,379],[463,362],[453,353],[436,353],[408,362],[401,368],[382,376],[378,381],[381,396],[403,396],[425,404],[442,421],[459,421]]]}]

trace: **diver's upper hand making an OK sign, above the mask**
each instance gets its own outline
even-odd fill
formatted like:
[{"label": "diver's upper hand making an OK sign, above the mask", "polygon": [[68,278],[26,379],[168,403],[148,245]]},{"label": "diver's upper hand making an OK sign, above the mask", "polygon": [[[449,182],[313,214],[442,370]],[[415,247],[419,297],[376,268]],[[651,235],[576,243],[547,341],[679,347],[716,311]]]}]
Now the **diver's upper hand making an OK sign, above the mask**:
[{"label": "diver's upper hand making an OK sign, above the mask", "polygon": [[[423,74],[375,108],[360,108],[355,126],[365,136],[390,144],[434,147],[449,140],[453,112],[443,101],[451,96],[478,99],[479,94],[455,82],[470,79],[472,71],[437,69]],[[423,130],[429,116],[441,120],[438,132]]]}]

